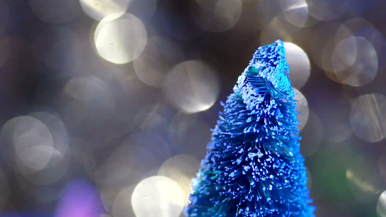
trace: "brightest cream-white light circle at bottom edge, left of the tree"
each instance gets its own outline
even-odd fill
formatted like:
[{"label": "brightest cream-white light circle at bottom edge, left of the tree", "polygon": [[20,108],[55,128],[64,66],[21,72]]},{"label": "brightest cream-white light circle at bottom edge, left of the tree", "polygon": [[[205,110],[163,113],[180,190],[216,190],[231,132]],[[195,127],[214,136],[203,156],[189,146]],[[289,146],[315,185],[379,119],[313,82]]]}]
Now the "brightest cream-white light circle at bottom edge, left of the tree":
[{"label": "brightest cream-white light circle at bottom edge, left of the tree", "polygon": [[181,187],[164,176],[142,180],[135,187],[131,198],[137,217],[178,217],[185,205],[185,195]]}]

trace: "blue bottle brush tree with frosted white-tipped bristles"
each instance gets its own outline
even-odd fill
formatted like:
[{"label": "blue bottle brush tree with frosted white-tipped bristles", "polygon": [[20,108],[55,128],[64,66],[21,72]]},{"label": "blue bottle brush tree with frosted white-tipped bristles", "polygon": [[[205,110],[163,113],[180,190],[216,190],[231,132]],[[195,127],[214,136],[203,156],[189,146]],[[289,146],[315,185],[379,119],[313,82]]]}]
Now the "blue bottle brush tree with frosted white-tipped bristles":
[{"label": "blue bottle brush tree with frosted white-tipped bristles", "polygon": [[187,217],[313,217],[283,42],[239,76],[201,161]]}]

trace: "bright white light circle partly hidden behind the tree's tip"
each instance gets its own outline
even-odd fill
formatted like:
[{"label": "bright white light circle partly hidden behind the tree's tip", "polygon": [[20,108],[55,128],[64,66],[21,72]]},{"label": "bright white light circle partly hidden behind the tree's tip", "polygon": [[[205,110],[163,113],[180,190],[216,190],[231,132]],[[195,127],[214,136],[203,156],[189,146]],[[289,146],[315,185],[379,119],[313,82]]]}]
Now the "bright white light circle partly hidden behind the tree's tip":
[{"label": "bright white light circle partly hidden behind the tree's tip", "polygon": [[284,42],[286,58],[289,64],[289,79],[294,88],[302,88],[310,77],[310,60],[301,47],[291,42]]}]

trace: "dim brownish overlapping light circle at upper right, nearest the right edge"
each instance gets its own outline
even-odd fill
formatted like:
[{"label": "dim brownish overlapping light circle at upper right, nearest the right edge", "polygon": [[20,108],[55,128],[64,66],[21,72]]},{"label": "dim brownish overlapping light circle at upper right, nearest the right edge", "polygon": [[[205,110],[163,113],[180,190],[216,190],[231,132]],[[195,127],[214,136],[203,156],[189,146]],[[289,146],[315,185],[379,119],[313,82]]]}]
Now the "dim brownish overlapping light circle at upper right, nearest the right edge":
[{"label": "dim brownish overlapping light circle at upper right, nearest the right edge", "polygon": [[377,52],[363,37],[350,37],[339,43],[332,55],[332,63],[337,79],[350,86],[369,83],[378,71]]}]

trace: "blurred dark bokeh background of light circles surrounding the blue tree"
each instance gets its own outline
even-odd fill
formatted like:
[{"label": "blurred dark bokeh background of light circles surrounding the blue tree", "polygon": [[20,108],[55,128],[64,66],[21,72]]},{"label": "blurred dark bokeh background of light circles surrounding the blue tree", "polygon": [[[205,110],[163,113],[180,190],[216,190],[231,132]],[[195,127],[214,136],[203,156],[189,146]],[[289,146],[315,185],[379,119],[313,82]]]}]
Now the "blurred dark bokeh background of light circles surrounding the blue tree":
[{"label": "blurred dark bokeh background of light circles surrounding the blue tree", "polygon": [[385,10],[0,0],[0,216],[182,216],[219,102],[281,39],[317,217],[385,217]]}]

